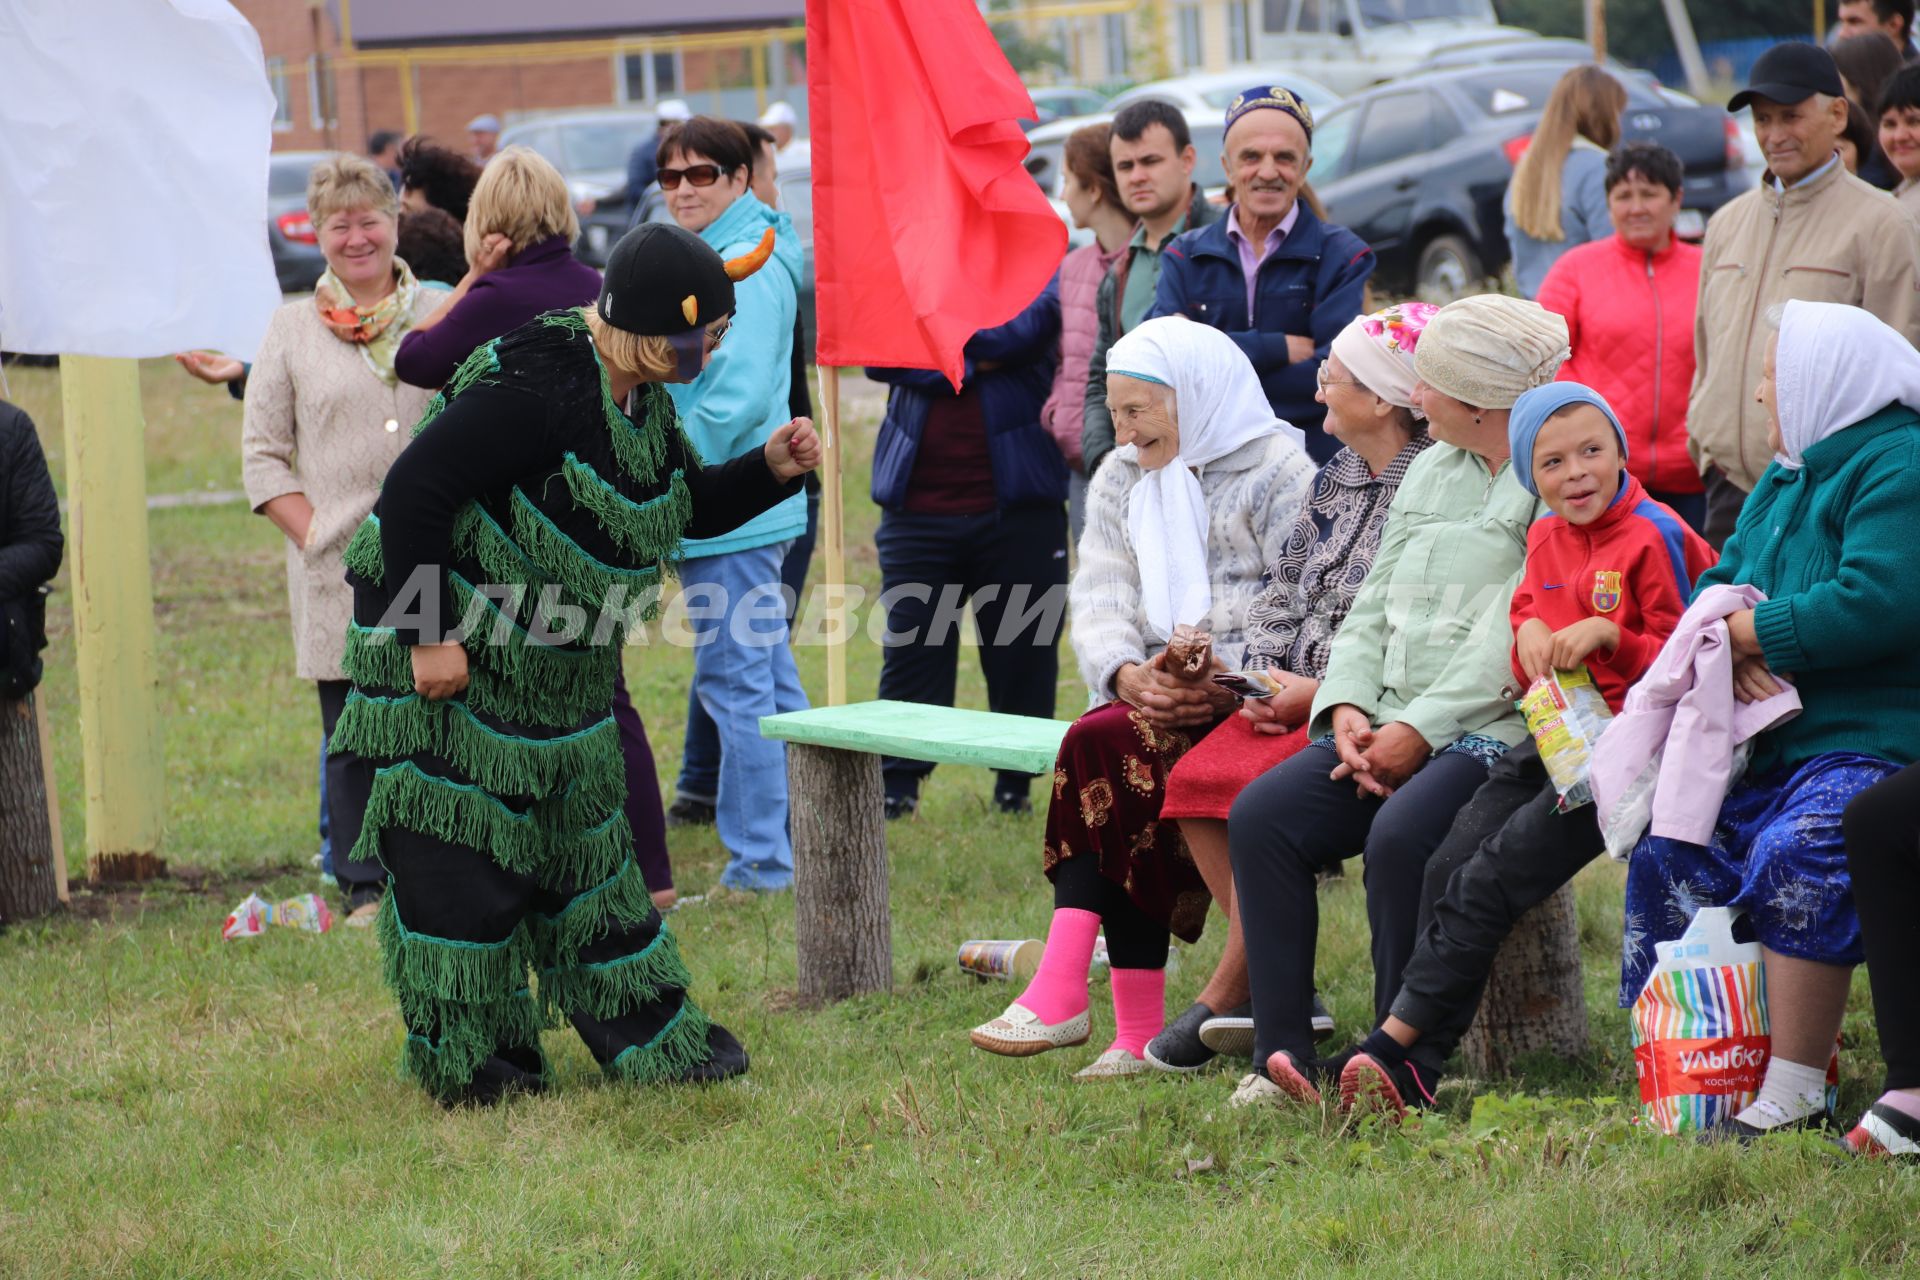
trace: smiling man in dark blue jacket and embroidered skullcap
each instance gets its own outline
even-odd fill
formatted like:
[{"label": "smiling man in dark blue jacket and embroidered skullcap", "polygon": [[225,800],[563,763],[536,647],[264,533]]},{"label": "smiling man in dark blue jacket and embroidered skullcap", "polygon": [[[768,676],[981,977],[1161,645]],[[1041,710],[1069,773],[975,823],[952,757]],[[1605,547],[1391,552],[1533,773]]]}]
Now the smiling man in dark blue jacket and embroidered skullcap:
[{"label": "smiling man in dark blue jacket and embroidered skullcap", "polygon": [[1313,399],[1334,334],[1367,309],[1373,249],[1319,221],[1300,200],[1313,165],[1313,113],[1277,84],[1227,107],[1221,163],[1233,180],[1227,217],[1167,246],[1152,315],[1185,315],[1225,330],[1254,363],[1273,413],[1308,434],[1325,462],[1340,441],[1317,430]]}]

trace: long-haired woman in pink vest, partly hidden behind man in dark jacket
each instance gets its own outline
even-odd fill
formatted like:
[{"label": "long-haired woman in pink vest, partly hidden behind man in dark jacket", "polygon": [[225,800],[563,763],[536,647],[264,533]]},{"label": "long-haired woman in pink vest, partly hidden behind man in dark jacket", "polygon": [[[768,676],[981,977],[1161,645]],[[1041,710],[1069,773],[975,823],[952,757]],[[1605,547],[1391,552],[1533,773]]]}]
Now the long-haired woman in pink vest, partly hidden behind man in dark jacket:
[{"label": "long-haired woman in pink vest, partly hidden behind man in dark jacket", "polygon": [[1079,547],[1087,526],[1087,470],[1081,464],[1081,407],[1087,403],[1087,365],[1098,338],[1100,319],[1094,297],[1100,280],[1119,261],[1133,238],[1133,215],[1119,200],[1114,182],[1114,157],[1108,154],[1108,125],[1087,125],[1068,134],[1062,157],[1060,196],[1066,200],[1073,225],[1092,230],[1092,244],[1073,249],[1060,263],[1060,370],[1054,391],[1041,407],[1041,424],[1060,445],[1068,468],[1068,520],[1073,545]]}]

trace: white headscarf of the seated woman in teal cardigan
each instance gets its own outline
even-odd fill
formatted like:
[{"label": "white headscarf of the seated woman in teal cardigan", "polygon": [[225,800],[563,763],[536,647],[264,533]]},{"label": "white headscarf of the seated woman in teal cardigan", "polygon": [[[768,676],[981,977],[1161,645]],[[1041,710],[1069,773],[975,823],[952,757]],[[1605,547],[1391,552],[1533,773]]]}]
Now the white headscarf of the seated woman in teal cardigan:
[{"label": "white headscarf of the seated woman in teal cardigan", "polygon": [[1891,403],[1920,411],[1920,353],[1874,315],[1828,301],[1789,301],[1774,355],[1782,466]]}]

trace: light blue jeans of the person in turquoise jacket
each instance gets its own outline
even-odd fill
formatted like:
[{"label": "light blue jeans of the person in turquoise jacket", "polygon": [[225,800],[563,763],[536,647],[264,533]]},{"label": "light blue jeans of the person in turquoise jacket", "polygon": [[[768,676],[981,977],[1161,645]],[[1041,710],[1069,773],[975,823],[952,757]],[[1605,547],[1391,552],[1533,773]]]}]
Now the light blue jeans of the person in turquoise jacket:
[{"label": "light blue jeans of the person in turquoise jacket", "polygon": [[697,637],[689,712],[707,712],[720,745],[714,827],[728,850],[728,889],[793,885],[787,747],[760,737],[760,716],[806,706],[780,595],[785,553],[787,543],[772,543],[680,566]]}]

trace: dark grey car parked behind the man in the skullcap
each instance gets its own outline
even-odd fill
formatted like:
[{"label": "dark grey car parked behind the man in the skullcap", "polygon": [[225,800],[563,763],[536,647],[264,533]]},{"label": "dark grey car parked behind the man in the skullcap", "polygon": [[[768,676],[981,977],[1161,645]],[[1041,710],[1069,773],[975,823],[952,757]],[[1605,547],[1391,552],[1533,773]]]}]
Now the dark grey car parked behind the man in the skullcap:
[{"label": "dark grey car parked behind the man in the skullcap", "polygon": [[[1565,61],[1434,71],[1369,88],[1313,130],[1313,190],[1327,217],[1373,246],[1375,288],[1448,301],[1476,292],[1509,261],[1501,201]],[[1697,238],[1707,217],[1753,180],[1734,119],[1644,73],[1626,86],[1622,138],[1651,138],[1686,165],[1676,230]]]}]

